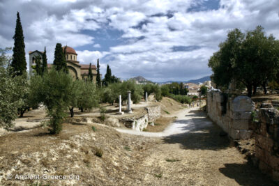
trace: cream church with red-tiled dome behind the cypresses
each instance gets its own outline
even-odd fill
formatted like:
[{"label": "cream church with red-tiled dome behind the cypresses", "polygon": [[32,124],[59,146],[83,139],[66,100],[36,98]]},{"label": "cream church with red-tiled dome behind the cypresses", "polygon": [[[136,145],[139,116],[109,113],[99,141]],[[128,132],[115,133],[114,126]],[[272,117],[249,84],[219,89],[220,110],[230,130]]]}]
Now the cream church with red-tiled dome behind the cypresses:
[{"label": "cream church with red-tiled dome behind the cypresses", "polygon": [[[63,50],[65,47],[63,47]],[[29,73],[30,75],[33,74],[32,66],[36,65],[35,58],[36,56],[40,56],[40,59],[43,59],[43,52],[40,52],[38,50],[29,52]],[[73,76],[74,79],[83,79],[84,81],[88,81],[89,79],[89,65],[86,64],[80,64],[79,61],[77,61],[77,52],[75,52],[75,49],[72,47],[66,47],[66,62],[67,67],[70,72],[70,75]],[[47,63],[47,68],[52,68],[53,64]],[[91,64],[91,70],[93,74],[93,82],[96,83],[96,77],[97,77],[97,68],[96,65]]]}]

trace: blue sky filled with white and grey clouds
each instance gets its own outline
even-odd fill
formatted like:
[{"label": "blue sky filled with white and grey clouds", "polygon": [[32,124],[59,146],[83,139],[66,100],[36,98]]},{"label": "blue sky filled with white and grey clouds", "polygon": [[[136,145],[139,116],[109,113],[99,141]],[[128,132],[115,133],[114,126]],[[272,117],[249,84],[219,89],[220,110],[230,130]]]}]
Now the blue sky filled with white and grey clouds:
[{"label": "blue sky filled with white and grey clouds", "polygon": [[0,47],[13,47],[20,12],[28,52],[56,42],[73,47],[80,63],[100,58],[121,79],[154,82],[211,75],[207,63],[234,28],[279,37],[278,0],[0,0]]}]

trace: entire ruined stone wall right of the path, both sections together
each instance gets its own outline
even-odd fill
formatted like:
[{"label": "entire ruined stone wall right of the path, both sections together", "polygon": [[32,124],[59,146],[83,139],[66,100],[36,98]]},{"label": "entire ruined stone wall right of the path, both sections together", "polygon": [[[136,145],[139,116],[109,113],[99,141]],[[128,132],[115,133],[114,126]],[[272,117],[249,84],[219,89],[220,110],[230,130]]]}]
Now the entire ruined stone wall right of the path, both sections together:
[{"label": "entire ruined stone wall right of the path, both sections together", "polygon": [[229,98],[220,91],[207,93],[209,118],[232,139],[255,137],[253,163],[279,181],[279,100],[263,102],[261,107],[255,110],[255,103],[247,96]]}]

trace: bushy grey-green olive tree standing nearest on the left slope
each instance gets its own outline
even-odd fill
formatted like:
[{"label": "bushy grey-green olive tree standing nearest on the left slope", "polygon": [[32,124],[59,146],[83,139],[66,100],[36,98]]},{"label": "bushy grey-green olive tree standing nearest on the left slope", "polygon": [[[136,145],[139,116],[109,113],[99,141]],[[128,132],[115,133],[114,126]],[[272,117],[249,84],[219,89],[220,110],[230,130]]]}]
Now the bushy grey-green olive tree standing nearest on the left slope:
[{"label": "bushy grey-green olive tree standing nearest on the left slope", "polygon": [[36,102],[43,102],[47,107],[50,132],[57,134],[62,130],[62,123],[67,116],[68,105],[72,99],[73,77],[66,72],[50,70],[43,77],[31,77],[31,94]]}]

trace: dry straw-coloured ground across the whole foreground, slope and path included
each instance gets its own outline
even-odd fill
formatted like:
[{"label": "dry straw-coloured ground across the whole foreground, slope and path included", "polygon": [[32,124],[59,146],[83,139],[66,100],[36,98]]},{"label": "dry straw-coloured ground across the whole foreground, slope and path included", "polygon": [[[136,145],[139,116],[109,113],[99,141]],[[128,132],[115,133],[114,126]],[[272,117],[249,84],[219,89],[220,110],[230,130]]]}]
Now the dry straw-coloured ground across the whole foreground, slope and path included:
[{"label": "dry straw-coloured ground across the whole foreground, slope and path included", "polygon": [[[0,137],[0,185],[276,185],[206,114],[188,112],[192,130],[163,138],[121,134],[98,124],[63,124]],[[184,123],[179,120],[176,122]],[[96,128],[96,132],[91,127]],[[98,149],[103,156],[96,156]],[[14,177],[7,179],[8,174]],[[18,175],[79,176],[73,180],[15,180]]]}]

